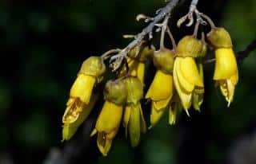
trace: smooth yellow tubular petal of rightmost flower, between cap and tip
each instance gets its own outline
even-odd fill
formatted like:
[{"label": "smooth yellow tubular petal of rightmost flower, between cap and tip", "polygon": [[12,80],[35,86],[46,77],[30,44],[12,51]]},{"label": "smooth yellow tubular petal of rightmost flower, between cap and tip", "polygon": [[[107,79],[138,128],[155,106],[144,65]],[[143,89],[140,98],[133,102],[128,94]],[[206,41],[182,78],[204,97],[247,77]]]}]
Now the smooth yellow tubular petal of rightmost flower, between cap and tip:
[{"label": "smooth yellow tubular petal of rightmost flower, between cap and tip", "polygon": [[214,80],[230,79],[237,73],[237,61],[233,49],[216,49],[215,57]]}]

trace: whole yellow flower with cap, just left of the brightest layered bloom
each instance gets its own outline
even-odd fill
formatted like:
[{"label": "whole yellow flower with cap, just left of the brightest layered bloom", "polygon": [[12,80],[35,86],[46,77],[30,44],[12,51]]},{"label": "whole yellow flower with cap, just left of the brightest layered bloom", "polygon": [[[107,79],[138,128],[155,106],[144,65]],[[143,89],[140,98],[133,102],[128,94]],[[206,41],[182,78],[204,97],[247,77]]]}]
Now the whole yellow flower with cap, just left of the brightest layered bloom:
[{"label": "whole yellow flower with cap, just left of the brightest layered bloom", "polygon": [[158,123],[174,93],[172,76],[174,52],[169,49],[160,49],[154,53],[153,60],[154,66],[157,68],[157,72],[145,96],[146,99],[150,99],[152,101],[150,127],[153,127]]}]

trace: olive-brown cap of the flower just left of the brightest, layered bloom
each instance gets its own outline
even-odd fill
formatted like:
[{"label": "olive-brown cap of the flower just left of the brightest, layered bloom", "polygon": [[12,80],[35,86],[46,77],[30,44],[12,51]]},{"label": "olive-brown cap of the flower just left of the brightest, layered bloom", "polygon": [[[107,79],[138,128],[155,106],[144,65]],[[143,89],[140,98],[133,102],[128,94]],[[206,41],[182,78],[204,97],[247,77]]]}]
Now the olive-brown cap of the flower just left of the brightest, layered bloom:
[{"label": "olive-brown cap of the flower just left of the brightest, layered bloom", "polygon": [[172,73],[174,69],[174,51],[160,49],[154,53],[154,66],[165,73]]}]

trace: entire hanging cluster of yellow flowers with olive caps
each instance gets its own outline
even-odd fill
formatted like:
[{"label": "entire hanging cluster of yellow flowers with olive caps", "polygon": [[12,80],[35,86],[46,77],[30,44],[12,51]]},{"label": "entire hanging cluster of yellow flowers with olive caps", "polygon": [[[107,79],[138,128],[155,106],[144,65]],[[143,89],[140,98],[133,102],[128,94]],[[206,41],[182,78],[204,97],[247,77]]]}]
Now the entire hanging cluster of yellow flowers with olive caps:
[{"label": "entire hanging cluster of yellow flowers with olive caps", "polygon": [[[98,149],[104,156],[109,152],[121,123],[126,137],[129,135],[131,146],[138,146],[141,133],[146,133],[147,129],[141,104],[143,98],[150,102],[149,128],[158,123],[166,110],[169,111],[170,124],[176,122],[177,113],[182,110],[187,115],[191,107],[200,111],[205,92],[203,61],[207,47],[215,52],[213,79],[230,105],[238,83],[238,67],[230,34],[226,29],[214,27],[207,34],[207,41],[203,36],[201,39],[195,34],[182,37],[177,46],[173,43],[173,49],[167,49],[163,44],[158,50],[150,49],[146,41],[142,41],[130,50],[116,78],[106,82],[103,91],[105,102],[90,134],[97,135]],[[148,60],[153,61],[156,72],[143,94]],[[105,72],[104,57],[89,57],[83,62],[62,117],[63,140],[69,140],[90,115],[100,95],[95,87]]]}]

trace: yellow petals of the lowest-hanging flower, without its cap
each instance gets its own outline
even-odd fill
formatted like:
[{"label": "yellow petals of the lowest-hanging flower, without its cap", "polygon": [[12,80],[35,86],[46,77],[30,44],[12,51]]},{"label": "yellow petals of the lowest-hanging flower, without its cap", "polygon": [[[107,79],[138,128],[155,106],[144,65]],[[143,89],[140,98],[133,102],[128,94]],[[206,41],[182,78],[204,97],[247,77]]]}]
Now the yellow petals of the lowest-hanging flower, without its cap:
[{"label": "yellow petals of the lowest-hanging flower, without its cap", "polygon": [[104,156],[109,152],[112,141],[118,133],[121,119],[122,105],[117,105],[106,100],[102,107],[102,111],[98,116],[94,131],[90,134],[90,136],[93,136],[98,133],[98,149]]}]

